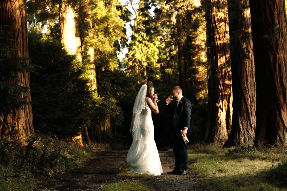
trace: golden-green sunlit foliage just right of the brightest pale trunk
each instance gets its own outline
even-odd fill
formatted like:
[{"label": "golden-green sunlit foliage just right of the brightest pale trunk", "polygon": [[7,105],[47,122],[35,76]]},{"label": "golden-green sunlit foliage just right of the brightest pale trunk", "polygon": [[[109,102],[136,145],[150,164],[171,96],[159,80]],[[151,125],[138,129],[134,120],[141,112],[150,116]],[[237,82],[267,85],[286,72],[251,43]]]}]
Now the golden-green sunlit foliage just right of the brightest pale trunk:
[{"label": "golden-green sunlit foliage just right of the brightest pale trunk", "polygon": [[86,48],[94,48],[96,67],[117,69],[117,51],[125,46],[127,40],[123,19],[129,20],[129,12],[117,0],[92,0],[90,6],[92,27],[87,31],[84,44]]}]

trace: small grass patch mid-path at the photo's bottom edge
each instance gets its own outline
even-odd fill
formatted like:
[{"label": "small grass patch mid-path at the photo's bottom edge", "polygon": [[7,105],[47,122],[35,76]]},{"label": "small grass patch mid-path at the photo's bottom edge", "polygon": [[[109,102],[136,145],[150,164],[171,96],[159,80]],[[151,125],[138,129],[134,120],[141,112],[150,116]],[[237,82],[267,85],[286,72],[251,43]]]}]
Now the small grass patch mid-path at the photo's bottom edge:
[{"label": "small grass patch mid-path at the photo's bottom edge", "polygon": [[142,183],[123,180],[106,185],[103,191],[150,191],[150,189]]}]

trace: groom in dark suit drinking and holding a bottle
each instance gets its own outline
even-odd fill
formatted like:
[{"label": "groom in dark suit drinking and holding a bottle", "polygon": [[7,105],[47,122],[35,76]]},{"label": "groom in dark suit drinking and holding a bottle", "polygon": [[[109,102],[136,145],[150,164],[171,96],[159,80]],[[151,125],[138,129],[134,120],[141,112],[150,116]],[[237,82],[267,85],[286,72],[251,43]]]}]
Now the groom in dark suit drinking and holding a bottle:
[{"label": "groom in dark suit drinking and holding a bottle", "polygon": [[[165,102],[170,113],[170,131],[172,132],[172,146],[175,156],[175,168],[167,174],[186,175],[188,166],[187,146],[182,137],[190,133],[191,103],[182,96],[181,87],[175,86],[171,90],[173,98],[168,97]],[[182,130],[182,131],[181,131]]]}]

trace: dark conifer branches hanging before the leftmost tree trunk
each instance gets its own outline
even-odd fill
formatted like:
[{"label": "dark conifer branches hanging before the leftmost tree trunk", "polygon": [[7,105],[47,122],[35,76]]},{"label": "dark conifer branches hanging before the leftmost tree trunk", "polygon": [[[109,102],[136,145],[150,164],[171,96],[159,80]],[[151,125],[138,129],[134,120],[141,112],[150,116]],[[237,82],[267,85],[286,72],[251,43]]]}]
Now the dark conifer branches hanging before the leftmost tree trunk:
[{"label": "dark conifer branches hanging before the leftmost tree trunk", "polygon": [[17,85],[21,84],[17,75],[31,72],[34,69],[34,65],[29,63],[28,58],[15,58],[13,56],[17,47],[4,44],[5,41],[13,40],[5,28],[5,26],[0,26],[0,115],[6,115],[11,110],[19,109],[23,104],[28,103],[25,97],[19,98],[21,92],[29,91],[29,89]]}]

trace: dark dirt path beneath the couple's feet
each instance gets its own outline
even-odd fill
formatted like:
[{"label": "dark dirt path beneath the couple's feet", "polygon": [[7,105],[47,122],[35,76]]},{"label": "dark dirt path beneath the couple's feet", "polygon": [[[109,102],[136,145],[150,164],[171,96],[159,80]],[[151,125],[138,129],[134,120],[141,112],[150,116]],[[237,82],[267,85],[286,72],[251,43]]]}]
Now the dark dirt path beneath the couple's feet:
[{"label": "dark dirt path beneath the couple's feet", "polygon": [[120,180],[133,179],[156,191],[190,190],[206,191],[201,183],[192,175],[168,175],[167,171],[173,169],[173,154],[167,151],[159,151],[164,174],[160,176],[148,177],[128,177],[117,176],[118,172],[127,169],[127,150],[109,151],[97,153],[94,158],[83,168],[74,172],[59,175],[51,180],[47,180],[40,185],[37,190],[41,191],[99,191],[105,185]]}]

